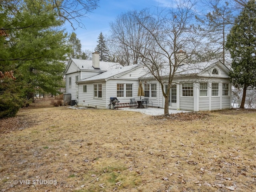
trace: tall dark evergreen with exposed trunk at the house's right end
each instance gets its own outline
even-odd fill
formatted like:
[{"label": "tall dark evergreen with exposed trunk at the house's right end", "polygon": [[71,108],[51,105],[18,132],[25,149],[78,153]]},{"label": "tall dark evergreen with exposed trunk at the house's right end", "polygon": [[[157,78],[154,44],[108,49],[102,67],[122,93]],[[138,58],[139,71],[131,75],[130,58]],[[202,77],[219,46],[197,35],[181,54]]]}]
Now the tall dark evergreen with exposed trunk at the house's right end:
[{"label": "tall dark evergreen with exposed trunk at the house's right end", "polygon": [[249,0],[228,34],[226,48],[232,58],[232,84],[243,88],[240,108],[244,108],[246,90],[256,86],[256,4]]}]

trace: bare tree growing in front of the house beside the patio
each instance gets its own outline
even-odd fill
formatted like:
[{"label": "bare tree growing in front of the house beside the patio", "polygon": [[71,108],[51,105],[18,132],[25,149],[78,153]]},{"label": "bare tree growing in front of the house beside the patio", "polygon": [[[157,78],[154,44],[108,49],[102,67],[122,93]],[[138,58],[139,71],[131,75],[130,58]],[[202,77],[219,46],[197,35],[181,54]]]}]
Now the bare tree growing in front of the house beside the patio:
[{"label": "bare tree growing in front of the house beside the patio", "polygon": [[[124,45],[136,52],[140,61],[158,80],[165,98],[164,114],[168,115],[170,88],[174,76],[181,72],[187,57],[200,44],[194,22],[194,4],[179,2],[177,7],[150,14],[147,10],[134,12],[136,24],[140,27],[140,46],[126,38]],[[186,50],[186,56],[177,52]]]}]

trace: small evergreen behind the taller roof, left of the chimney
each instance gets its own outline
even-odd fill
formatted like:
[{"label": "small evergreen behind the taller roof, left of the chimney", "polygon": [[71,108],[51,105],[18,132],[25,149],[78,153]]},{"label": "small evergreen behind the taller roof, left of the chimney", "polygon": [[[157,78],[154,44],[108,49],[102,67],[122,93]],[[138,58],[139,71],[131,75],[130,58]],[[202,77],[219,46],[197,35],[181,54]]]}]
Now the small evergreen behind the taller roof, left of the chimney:
[{"label": "small evergreen behind the taller roof, left of the chimney", "polygon": [[76,34],[74,32],[72,32],[72,34],[70,35],[68,44],[71,49],[71,52],[68,56],[70,58],[80,59],[82,56],[82,51],[81,51],[82,45],[81,45],[80,40],[78,38],[76,38]]}]

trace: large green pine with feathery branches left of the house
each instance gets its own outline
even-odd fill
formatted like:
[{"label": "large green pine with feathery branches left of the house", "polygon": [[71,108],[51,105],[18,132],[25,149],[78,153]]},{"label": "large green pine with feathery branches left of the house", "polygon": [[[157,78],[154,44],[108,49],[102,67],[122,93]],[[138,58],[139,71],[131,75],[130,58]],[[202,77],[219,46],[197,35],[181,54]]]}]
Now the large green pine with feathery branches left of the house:
[{"label": "large green pine with feathery branches left of the house", "polygon": [[0,88],[1,117],[8,116],[12,105],[21,107],[20,99],[34,99],[38,90],[56,94],[64,86],[69,49],[63,24],[49,1],[6,0],[1,4],[0,71],[13,71],[16,77],[1,80],[7,82]]}]

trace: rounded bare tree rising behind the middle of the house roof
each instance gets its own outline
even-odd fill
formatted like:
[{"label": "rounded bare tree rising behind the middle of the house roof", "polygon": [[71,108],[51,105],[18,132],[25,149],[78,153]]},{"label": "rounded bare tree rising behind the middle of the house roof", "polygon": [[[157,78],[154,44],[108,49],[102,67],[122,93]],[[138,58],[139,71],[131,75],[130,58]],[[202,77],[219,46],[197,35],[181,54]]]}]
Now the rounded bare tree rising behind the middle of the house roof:
[{"label": "rounded bare tree rising behind the middle of the house roof", "polygon": [[[138,24],[138,16],[148,16],[148,11],[129,11],[120,14],[110,23],[110,37],[108,44],[112,57],[122,65],[137,64],[140,62],[139,52],[144,44],[144,28]],[[127,46],[129,44],[129,46]]]}]

